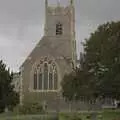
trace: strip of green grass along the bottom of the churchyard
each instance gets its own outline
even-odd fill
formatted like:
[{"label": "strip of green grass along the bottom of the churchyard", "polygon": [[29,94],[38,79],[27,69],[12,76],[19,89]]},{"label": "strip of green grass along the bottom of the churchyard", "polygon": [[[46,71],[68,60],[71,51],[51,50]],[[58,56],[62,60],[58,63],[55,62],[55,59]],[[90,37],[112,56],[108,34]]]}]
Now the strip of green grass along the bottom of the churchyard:
[{"label": "strip of green grass along the bottom of the churchyard", "polygon": [[17,113],[4,113],[0,120],[120,120],[120,110],[102,110],[99,112],[68,112],[45,115],[20,115]]}]

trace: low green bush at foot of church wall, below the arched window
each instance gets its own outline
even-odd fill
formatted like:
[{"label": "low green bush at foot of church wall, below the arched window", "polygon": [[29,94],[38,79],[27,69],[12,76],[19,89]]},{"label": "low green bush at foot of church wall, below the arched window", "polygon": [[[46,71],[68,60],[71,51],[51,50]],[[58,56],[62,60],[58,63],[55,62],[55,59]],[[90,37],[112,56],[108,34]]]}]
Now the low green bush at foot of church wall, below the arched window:
[{"label": "low green bush at foot of church wall, below the arched window", "polygon": [[18,111],[20,114],[42,114],[45,113],[43,106],[40,103],[26,103],[19,106]]}]

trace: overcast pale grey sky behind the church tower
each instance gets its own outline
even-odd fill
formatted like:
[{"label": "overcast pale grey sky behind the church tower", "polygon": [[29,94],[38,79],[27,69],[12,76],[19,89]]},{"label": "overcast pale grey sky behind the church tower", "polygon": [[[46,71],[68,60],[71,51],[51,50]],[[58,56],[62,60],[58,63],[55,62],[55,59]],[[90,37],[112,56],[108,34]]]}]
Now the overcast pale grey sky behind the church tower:
[{"label": "overcast pale grey sky behind the church tower", "polygon": [[[120,20],[120,0],[75,0],[75,8],[77,53],[82,50],[81,41],[99,24]],[[0,0],[0,59],[18,71],[43,36],[43,28],[44,0]]]}]

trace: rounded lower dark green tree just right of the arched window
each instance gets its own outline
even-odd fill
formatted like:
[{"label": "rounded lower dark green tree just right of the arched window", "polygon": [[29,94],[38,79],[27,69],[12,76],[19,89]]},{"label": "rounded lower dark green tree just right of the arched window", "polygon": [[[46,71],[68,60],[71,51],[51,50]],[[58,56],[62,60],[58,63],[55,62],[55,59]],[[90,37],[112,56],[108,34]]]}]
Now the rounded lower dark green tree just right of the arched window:
[{"label": "rounded lower dark green tree just right of the arched window", "polygon": [[81,96],[90,100],[95,95],[94,88],[92,74],[80,68],[65,75],[62,81],[62,93],[67,101],[80,100]]}]

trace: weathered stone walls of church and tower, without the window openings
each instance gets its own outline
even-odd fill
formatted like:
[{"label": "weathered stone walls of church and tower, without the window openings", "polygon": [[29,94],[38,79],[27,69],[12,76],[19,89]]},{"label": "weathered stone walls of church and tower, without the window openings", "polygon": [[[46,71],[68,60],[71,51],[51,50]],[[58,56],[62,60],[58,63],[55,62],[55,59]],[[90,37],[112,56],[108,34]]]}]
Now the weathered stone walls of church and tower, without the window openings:
[{"label": "weathered stone walls of church and tower, without the window openings", "polygon": [[[68,104],[61,97],[60,84],[64,75],[70,73],[73,67],[76,66],[74,5],[71,2],[67,7],[56,6],[53,8],[48,6],[47,0],[45,3],[44,36],[21,66],[20,101],[21,104],[26,102],[46,102],[49,110],[55,110],[59,102],[65,109],[68,108]],[[62,25],[61,35],[56,35],[57,23]],[[34,90],[34,66],[45,57],[54,61],[57,66],[58,88],[55,90]]]}]

